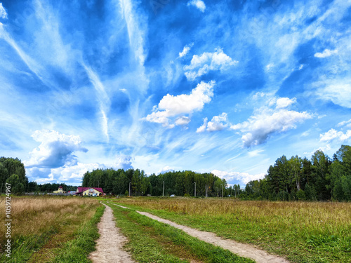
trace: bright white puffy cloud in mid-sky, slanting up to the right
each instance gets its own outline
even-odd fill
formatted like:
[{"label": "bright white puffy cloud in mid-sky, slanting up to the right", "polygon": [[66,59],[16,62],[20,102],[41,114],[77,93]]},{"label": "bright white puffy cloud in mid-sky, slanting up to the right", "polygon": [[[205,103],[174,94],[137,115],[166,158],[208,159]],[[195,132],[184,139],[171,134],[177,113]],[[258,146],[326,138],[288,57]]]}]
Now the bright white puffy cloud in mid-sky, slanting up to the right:
[{"label": "bright white puffy cloud in mid-sky, slanting up to the right", "polygon": [[[204,104],[211,102],[213,86],[215,86],[215,81],[208,83],[201,81],[192,90],[190,95],[182,94],[173,96],[167,94],[159,102],[158,106],[154,106],[152,114],[147,115],[143,119],[145,121],[161,123],[168,128],[173,128],[175,124],[185,125],[186,122],[190,122],[190,118],[184,116],[184,114],[201,111],[204,108]],[[180,118],[176,120],[175,124],[171,124],[171,118],[176,116],[180,116]]]}]

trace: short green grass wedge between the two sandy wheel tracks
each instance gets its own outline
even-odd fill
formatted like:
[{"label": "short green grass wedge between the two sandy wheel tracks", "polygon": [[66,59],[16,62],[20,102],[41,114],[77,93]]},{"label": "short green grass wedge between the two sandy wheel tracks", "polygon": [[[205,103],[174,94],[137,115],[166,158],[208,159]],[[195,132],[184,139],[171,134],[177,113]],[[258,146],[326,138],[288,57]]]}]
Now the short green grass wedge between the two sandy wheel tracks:
[{"label": "short green grass wedge between the two sandy wheel tracks", "polygon": [[114,210],[117,227],[129,240],[126,248],[137,262],[253,262],[134,210],[110,206]]}]

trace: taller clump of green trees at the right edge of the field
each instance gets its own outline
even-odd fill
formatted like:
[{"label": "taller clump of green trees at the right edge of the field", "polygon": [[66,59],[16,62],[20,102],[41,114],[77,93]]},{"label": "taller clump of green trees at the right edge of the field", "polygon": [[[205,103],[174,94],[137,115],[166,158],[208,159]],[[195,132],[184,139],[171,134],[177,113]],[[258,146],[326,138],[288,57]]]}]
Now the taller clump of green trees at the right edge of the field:
[{"label": "taller clump of green trees at the right edge of the field", "polygon": [[262,180],[246,184],[244,198],[272,201],[351,201],[351,147],[342,145],[329,158],[315,151],[311,160],[282,156]]}]

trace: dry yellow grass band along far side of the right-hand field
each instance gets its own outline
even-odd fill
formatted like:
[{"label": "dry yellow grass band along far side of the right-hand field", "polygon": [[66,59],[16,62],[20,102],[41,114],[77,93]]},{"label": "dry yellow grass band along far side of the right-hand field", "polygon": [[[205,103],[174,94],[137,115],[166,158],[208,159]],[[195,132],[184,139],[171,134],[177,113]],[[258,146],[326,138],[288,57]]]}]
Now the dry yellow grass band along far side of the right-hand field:
[{"label": "dry yellow grass band along far side of the right-hand field", "polygon": [[123,198],[118,202],[208,219],[230,219],[234,214],[243,220],[263,221],[267,224],[273,220],[284,226],[293,224],[301,229],[307,226],[333,229],[351,224],[351,203],[234,201],[229,198]]}]

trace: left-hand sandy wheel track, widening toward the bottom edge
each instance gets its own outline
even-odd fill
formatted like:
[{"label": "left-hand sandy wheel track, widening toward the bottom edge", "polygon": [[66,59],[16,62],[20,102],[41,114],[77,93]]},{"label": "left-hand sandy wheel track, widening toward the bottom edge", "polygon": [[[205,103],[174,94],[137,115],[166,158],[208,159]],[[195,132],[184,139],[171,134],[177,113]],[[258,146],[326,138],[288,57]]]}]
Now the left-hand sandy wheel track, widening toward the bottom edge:
[{"label": "left-hand sandy wheel track, widening toward the bottom edge", "polygon": [[123,250],[127,239],[116,227],[112,208],[108,205],[105,207],[104,215],[98,223],[100,238],[97,241],[96,250],[91,252],[89,258],[96,263],[135,263],[131,255]]}]

